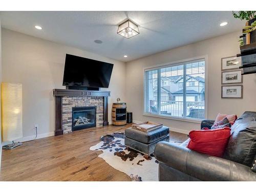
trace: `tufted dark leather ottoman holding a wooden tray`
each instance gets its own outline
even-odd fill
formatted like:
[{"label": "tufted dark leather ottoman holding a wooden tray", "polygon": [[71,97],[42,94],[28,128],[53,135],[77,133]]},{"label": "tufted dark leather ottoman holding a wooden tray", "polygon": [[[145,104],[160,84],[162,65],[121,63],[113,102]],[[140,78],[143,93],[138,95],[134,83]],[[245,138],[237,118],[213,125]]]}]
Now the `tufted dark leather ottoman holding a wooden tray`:
[{"label": "tufted dark leather ottoman holding a wooden tray", "polygon": [[124,144],[140,153],[150,155],[154,153],[155,146],[159,141],[169,141],[169,128],[162,126],[149,132],[132,129],[125,130]]}]

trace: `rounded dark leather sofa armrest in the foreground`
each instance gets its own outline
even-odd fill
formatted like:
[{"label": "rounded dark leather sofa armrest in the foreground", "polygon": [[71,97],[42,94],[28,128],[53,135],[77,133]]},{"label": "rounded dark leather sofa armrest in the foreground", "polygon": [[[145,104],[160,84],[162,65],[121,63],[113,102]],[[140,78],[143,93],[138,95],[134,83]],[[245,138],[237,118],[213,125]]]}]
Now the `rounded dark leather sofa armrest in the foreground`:
[{"label": "rounded dark leather sofa armrest in the foreground", "polygon": [[155,157],[159,162],[202,181],[256,181],[256,173],[248,166],[173,143],[157,143]]}]

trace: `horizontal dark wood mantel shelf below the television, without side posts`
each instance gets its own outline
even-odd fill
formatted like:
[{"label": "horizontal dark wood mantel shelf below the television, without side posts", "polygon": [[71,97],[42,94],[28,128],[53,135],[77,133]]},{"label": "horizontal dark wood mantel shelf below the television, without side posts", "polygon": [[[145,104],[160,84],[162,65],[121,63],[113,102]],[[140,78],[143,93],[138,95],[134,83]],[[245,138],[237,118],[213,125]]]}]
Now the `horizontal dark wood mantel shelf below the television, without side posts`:
[{"label": "horizontal dark wood mantel shelf below the television, without side posts", "polygon": [[54,89],[53,96],[54,97],[63,97],[63,96],[109,97],[110,91]]}]

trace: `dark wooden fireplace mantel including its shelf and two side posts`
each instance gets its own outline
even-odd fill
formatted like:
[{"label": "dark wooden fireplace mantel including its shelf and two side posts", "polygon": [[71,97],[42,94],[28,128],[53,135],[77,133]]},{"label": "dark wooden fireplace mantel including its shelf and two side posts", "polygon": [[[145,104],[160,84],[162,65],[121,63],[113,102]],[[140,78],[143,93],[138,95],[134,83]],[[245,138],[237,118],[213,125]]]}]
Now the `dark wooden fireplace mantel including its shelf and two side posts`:
[{"label": "dark wooden fireplace mantel including its shelf and two side posts", "polygon": [[62,130],[62,97],[76,96],[76,97],[103,97],[103,126],[109,125],[108,121],[108,97],[110,91],[90,91],[90,90],[68,90],[68,89],[54,89],[53,96],[55,97],[55,136],[63,135]]}]

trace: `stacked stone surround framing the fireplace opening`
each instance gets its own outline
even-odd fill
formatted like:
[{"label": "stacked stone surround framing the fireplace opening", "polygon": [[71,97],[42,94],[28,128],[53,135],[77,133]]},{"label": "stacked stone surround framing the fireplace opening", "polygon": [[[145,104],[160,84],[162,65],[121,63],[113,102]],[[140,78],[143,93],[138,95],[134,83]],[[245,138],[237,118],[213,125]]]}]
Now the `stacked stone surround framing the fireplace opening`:
[{"label": "stacked stone surround framing the fireplace opening", "polygon": [[77,106],[96,106],[96,126],[103,125],[103,97],[62,97],[63,134],[72,132],[72,108]]}]

